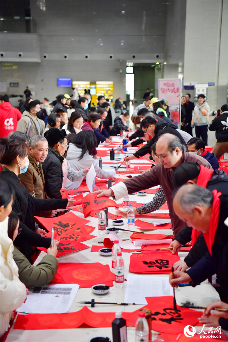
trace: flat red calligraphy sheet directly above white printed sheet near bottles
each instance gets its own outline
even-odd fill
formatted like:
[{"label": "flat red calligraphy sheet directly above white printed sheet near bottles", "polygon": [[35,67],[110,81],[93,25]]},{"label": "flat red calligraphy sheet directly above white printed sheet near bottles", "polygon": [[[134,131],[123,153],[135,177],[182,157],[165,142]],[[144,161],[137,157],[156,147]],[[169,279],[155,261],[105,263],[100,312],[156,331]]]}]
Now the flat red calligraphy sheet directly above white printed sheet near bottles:
[{"label": "flat red calligraphy sheet directly above white printed sheet near bottles", "polygon": [[179,261],[178,253],[156,251],[133,253],[130,257],[129,272],[143,274],[170,274],[172,265]]}]

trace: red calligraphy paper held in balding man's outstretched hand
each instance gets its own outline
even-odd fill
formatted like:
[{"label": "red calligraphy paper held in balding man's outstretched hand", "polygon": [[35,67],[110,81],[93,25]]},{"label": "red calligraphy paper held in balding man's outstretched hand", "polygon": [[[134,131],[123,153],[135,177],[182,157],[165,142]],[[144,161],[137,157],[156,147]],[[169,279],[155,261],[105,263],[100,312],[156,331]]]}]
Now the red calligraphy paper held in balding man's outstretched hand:
[{"label": "red calligraphy paper held in balding man's outstretched hand", "polygon": [[97,194],[88,194],[82,200],[84,217],[88,217],[93,210],[102,210],[108,207],[117,207],[115,201],[105,196],[97,197]]}]

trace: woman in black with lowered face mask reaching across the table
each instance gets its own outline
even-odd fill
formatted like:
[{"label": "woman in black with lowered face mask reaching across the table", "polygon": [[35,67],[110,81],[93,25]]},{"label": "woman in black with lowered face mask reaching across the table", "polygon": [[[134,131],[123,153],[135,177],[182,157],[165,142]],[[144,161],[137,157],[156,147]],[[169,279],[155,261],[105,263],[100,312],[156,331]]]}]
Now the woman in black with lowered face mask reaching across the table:
[{"label": "woman in black with lowered face mask reaching across the table", "polygon": [[4,165],[1,180],[10,183],[15,192],[13,211],[20,213],[22,232],[15,239],[15,246],[31,258],[34,250],[31,246],[49,248],[51,238],[44,238],[46,232],[35,224],[35,212],[68,208],[72,199],[39,199],[32,197],[20,183],[18,175],[27,171],[28,146],[19,140],[0,138],[0,163]]}]

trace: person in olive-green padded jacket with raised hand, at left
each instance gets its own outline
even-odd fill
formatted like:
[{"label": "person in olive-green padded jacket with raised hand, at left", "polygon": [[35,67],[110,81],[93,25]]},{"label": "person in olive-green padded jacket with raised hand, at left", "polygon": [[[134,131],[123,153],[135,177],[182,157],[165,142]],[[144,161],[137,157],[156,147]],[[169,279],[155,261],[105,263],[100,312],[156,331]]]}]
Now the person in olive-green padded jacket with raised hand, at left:
[{"label": "person in olive-green padded jacket with raised hand, at left", "polygon": [[[11,212],[8,221],[8,235],[14,241],[20,233],[21,228],[19,228],[18,215]],[[13,259],[18,267],[19,280],[21,280],[25,286],[44,286],[54,278],[58,269],[58,261],[56,259],[57,244],[55,240],[53,245],[53,248],[48,248],[48,255],[45,255],[37,266],[33,266],[28,259],[26,259],[25,255],[14,247]]]}]

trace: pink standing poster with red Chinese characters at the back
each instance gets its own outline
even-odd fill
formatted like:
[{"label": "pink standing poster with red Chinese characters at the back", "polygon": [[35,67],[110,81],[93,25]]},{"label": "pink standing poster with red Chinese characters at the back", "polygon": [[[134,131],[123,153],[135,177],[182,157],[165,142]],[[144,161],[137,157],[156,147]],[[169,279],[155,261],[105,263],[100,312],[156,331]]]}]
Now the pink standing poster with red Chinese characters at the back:
[{"label": "pink standing poster with red Chinese characters at the back", "polygon": [[165,101],[169,106],[170,120],[175,126],[180,126],[180,97],[182,89],[182,79],[180,78],[159,78],[158,98]]}]

